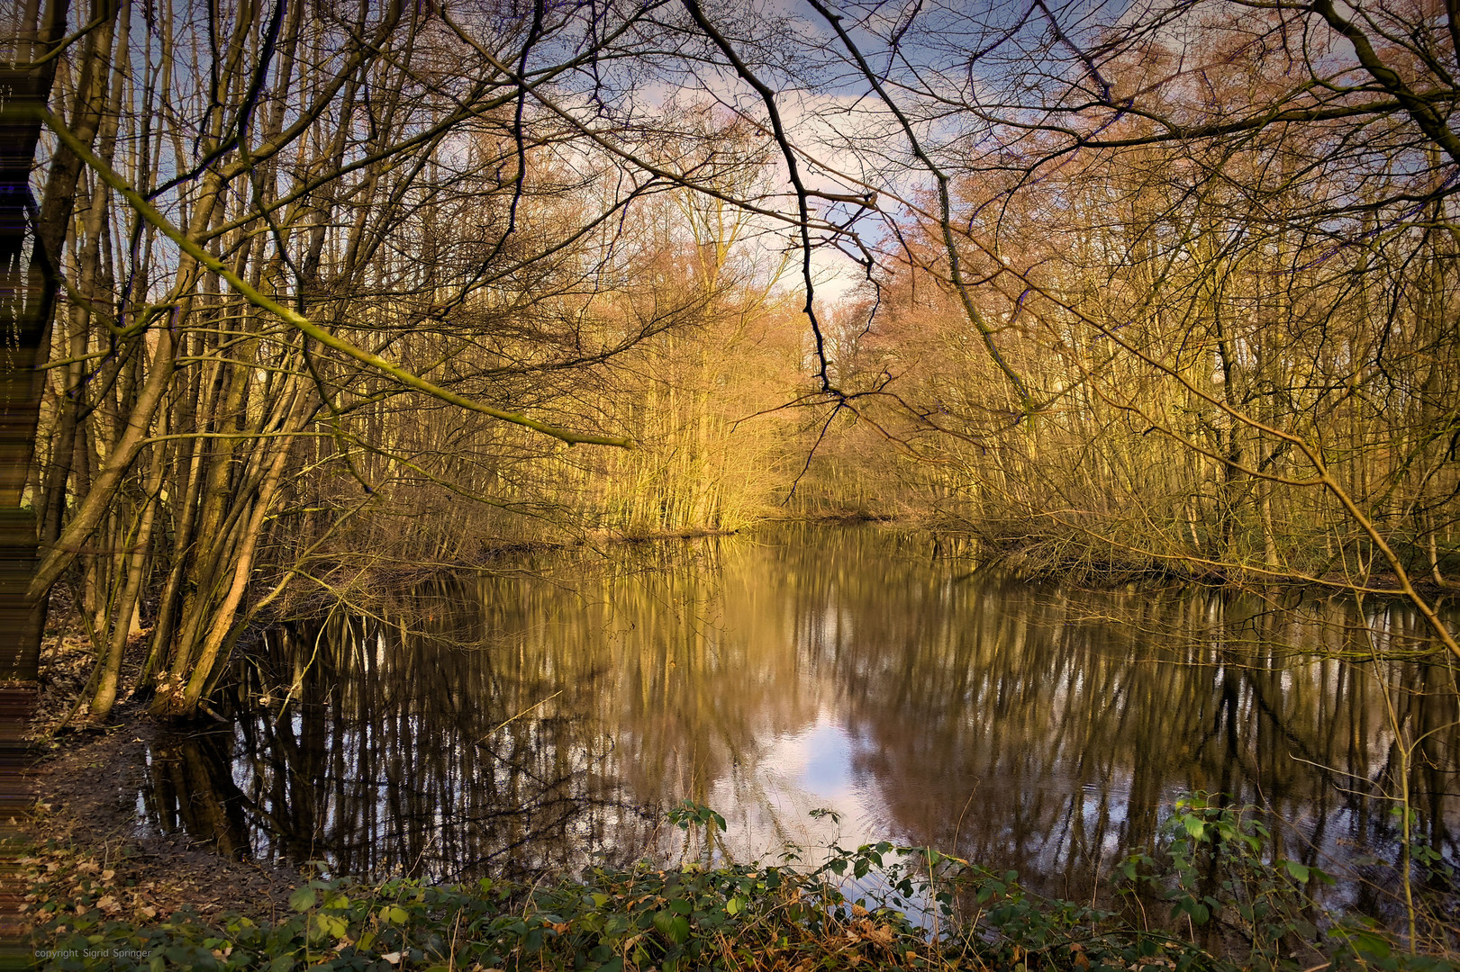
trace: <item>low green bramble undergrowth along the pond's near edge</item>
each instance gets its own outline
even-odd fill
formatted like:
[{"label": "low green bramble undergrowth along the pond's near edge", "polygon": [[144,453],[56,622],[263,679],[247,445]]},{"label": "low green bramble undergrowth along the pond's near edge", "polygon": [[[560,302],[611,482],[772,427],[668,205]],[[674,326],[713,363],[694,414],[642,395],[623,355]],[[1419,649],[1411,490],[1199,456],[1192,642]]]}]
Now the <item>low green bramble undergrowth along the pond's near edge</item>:
[{"label": "low green bramble undergrowth along the pond's near edge", "polygon": [[[1120,893],[1142,902],[1126,915],[1041,898],[1012,871],[886,842],[834,845],[818,867],[793,860],[794,849],[780,864],[733,864],[714,854],[720,814],[686,803],[670,820],[702,835],[696,860],[675,868],[593,868],[531,886],[366,884],[321,868],[273,922],[187,909],[115,919],[83,887],[42,905],[35,954],[47,969],[156,972],[1460,968],[1406,950],[1371,922],[1330,919],[1310,893],[1329,880],[1321,871],[1264,860],[1261,826],[1200,795],[1177,806],[1158,855],[1118,868]],[[1152,900],[1169,906],[1169,930],[1129,918]]]}]

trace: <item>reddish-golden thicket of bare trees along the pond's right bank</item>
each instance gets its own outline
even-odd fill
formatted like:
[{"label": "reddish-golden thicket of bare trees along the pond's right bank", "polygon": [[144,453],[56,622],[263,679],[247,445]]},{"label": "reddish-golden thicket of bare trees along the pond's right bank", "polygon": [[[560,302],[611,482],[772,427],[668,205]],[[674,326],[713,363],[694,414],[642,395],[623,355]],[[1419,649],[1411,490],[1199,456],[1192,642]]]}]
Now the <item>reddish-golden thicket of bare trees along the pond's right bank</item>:
[{"label": "reddish-golden thicket of bare trees along the pond's right bank", "polygon": [[1399,108],[1456,95],[1424,10],[969,13],[977,67],[934,18],[877,35],[888,111],[956,121],[908,128],[946,180],[832,321],[863,398],[816,489],[1051,571],[1453,590],[1460,156]]}]

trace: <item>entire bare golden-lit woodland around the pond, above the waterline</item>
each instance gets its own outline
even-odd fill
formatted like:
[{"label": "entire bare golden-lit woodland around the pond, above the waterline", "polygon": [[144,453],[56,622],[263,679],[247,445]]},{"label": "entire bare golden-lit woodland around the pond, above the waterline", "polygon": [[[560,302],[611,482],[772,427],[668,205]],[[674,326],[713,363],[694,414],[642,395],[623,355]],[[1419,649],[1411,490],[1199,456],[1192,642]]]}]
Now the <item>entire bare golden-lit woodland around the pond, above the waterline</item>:
[{"label": "entire bare golden-lit woodland around the pond, above the waterline", "polygon": [[95,718],[381,578],[816,517],[1460,657],[1453,0],[0,18],[3,664],[54,600]]}]

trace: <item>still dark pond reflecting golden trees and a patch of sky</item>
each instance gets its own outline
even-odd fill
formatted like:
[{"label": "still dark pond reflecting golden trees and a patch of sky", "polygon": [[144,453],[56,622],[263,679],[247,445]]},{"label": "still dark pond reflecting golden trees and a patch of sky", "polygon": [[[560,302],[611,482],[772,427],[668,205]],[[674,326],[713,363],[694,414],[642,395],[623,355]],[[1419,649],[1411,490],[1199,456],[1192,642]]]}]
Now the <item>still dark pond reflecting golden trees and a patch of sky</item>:
[{"label": "still dark pond reflecting golden trees and a patch of sky", "polygon": [[1377,912],[1397,725],[1418,839],[1460,860],[1456,670],[1394,658],[1422,635],[1402,606],[1079,591],[877,525],[610,553],[269,632],[226,728],[152,746],[139,826],[451,880],[672,863],[689,798],[736,860],[889,839],[1085,900],[1200,790]]}]

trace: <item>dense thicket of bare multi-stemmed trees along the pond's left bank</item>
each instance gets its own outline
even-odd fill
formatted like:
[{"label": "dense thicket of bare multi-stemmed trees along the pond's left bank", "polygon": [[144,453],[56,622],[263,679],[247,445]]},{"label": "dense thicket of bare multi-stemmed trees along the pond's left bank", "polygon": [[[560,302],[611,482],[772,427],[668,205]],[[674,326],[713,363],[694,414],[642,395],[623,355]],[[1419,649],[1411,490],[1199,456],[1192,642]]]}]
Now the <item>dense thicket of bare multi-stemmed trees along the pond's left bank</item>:
[{"label": "dense thicket of bare multi-stemmed trees along the pond's left bank", "polygon": [[55,112],[22,674],[57,584],[91,714],[146,629],[131,687],[187,715],[256,617],[362,571],[762,515],[794,429],[733,426],[799,352],[727,201],[755,146],[686,108],[629,171],[529,99],[585,96],[647,12],[98,3],[63,42],[66,7],[16,12]]}]

